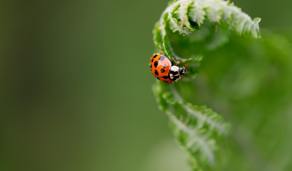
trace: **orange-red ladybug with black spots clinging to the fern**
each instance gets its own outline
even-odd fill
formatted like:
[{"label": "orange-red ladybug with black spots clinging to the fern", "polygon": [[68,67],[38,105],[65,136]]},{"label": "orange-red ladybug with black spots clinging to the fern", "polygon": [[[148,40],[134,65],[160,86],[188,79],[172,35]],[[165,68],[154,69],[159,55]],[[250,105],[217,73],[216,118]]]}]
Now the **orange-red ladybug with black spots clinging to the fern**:
[{"label": "orange-red ladybug with black spots clinging to the fern", "polygon": [[[154,53],[150,58],[150,71],[155,78],[165,83],[174,83],[179,81],[187,72],[186,67],[178,67],[180,62],[173,65],[175,58],[172,61],[164,54]],[[183,63],[183,62],[182,62]]]}]

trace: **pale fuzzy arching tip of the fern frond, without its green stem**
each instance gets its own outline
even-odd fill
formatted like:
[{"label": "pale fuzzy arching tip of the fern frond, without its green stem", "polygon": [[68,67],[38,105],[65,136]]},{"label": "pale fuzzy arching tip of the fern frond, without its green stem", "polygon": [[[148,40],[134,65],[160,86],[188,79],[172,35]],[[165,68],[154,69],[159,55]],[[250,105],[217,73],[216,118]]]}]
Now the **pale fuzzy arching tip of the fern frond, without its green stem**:
[{"label": "pale fuzzy arching tip of the fern frond, without its green stem", "polygon": [[[258,23],[260,18],[251,19],[249,15],[242,12],[240,8],[234,6],[233,3],[223,0],[179,0],[166,8],[162,16],[168,13],[168,19],[171,24],[178,29],[180,33],[190,34],[192,31],[190,18],[193,22],[197,22],[199,26],[203,24],[205,19],[212,22],[227,22],[231,29],[235,29],[238,34],[251,34],[258,38],[260,28]],[[173,18],[172,13],[178,13],[178,18]],[[165,18],[161,18],[165,20]],[[160,20],[161,22],[162,20]],[[180,21],[183,25],[178,25]],[[161,22],[161,25],[164,23]],[[187,31],[183,26],[190,29]]]}]

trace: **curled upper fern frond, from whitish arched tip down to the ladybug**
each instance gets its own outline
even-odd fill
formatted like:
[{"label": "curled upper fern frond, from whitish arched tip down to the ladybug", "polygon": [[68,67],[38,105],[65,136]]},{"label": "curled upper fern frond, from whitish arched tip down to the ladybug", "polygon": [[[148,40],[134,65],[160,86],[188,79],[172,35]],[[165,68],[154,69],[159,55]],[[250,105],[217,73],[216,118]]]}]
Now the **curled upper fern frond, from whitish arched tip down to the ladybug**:
[{"label": "curled upper fern frond, from whitish arched tip down to the ladybug", "polygon": [[255,38],[260,38],[258,23],[261,19],[252,20],[249,15],[229,1],[178,0],[165,9],[154,27],[154,43],[170,58],[181,59],[171,47],[166,34],[167,25],[173,32],[190,35],[192,32],[200,31],[199,27],[206,19],[219,24],[226,23],[229,29],[234,29],[239,35],[251,34]]}]

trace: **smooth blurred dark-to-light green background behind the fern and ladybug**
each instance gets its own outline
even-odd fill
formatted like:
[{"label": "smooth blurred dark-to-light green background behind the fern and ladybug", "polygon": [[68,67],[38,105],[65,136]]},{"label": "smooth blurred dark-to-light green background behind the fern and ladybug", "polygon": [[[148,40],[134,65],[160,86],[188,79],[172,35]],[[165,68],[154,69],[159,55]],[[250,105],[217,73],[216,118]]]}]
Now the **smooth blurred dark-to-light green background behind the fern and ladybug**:
[{"label": "smooth blurred dark-to-light green background behind the fern and ladybug", "polygon": [[[0,170],[183,170],[148,67],[167,3],[1,1]],[[292,1],[234,3],[292,25]]]}]

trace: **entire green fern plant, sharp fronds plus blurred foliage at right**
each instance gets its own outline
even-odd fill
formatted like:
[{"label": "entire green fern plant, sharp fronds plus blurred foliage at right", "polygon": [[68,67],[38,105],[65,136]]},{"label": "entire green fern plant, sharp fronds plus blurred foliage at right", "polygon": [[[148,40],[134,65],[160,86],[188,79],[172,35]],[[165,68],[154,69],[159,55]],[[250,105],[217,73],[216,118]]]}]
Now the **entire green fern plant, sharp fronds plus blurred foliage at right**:
[{"label": "entire green fern plant, sharp fronds plus blurred foliage at right", "polygon": [[227,1],[181,0],[155,24],[158,51],[189,63],[190,77],[152,90],[194,171],[292,170],[292,33],[255,39],[258,22]]}]

